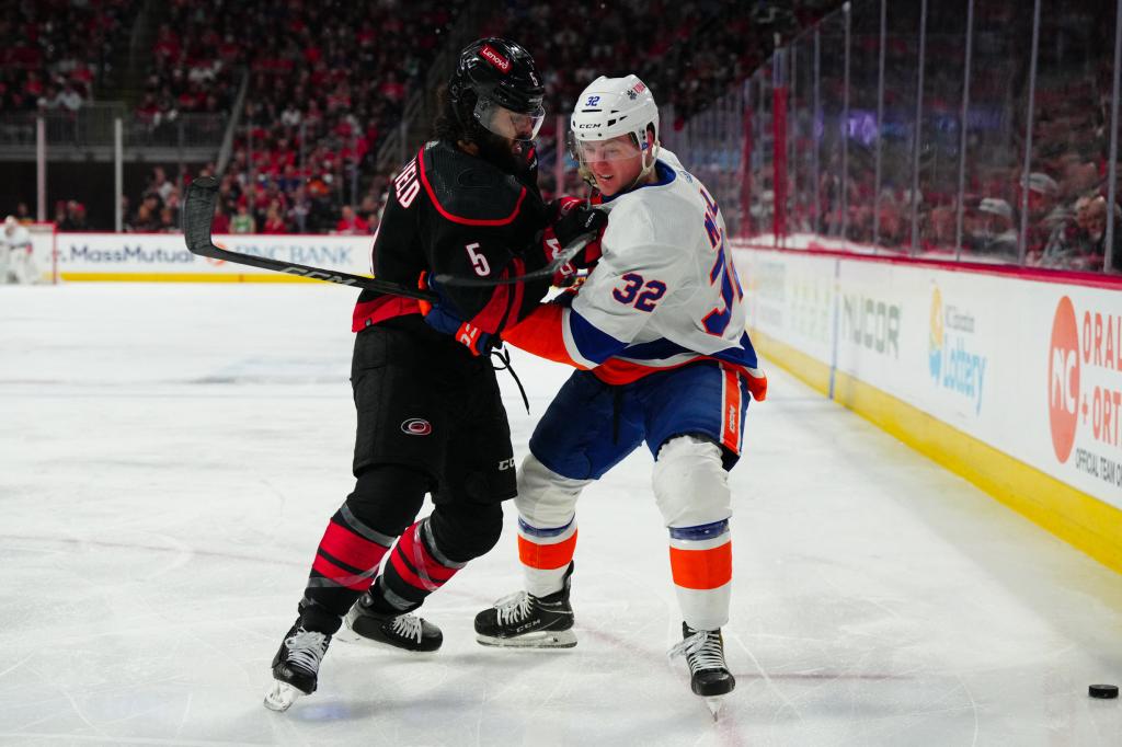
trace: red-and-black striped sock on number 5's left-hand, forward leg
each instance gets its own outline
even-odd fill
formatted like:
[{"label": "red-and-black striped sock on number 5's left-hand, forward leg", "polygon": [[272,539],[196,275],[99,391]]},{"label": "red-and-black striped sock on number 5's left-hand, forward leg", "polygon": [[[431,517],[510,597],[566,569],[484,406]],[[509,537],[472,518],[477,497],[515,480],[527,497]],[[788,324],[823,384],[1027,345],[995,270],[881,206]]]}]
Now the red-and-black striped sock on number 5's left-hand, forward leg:
[{"label": "red-and-black striped sock on number 5's left-hand, forward leg", "polygon": [[[360,522],[343,504],[328,523],[304,590],[307,629],[334,634],[351,605],[370,588],[394,537]],[[331,628],[331,629],[328,629]]]}]

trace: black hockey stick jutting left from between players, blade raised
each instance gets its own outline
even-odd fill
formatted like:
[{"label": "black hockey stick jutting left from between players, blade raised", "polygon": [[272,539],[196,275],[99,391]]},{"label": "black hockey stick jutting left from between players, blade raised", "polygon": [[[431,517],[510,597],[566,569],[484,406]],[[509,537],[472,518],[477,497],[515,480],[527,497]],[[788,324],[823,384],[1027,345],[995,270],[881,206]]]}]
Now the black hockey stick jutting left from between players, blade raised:
[{"label": "black hockey stick jutting left from between players, blade raised", "polygon": [[307,265],[296,265],[285,262],[268,257],[255,257],[243,255],[229,249],[220,249],[214,246],[211,239],[211,225],[214,221],[214,204],[218,202],[218,179],[213,176],[200,176],[187,187],[187,197],[183,204],[183,237],[187,242],[191,253],[211,259],[222,259],[236,265],[248,265],[249,267],[260,267],[261,269],[285,273],[286,275],[298,275],[313,280],[324,280],[339,285],[349,285],[359,288],[369,288],[379,293],[386,293],[405,298],[420,298],[421,301],[440,301],[440,297],[430,290],[410,288],[397,283],[376,280],[361,275],[351,275],[337,270],[327,270]]}]

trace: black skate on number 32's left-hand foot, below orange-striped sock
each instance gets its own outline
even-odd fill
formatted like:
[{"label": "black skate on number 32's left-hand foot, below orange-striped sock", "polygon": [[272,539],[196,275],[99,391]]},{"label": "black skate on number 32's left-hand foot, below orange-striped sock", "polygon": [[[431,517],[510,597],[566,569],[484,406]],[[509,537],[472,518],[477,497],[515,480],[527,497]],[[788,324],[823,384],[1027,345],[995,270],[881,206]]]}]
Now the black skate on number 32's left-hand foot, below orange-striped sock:
[{"label": "black skate on number 32's left-hand foot, below orange-striped sock", "polygon": [[561,591],[535,597],[519,591],[476,615],[476,640],[485,646],[572,648],[572,607],[569,605],[573,564],[564,572]]}]

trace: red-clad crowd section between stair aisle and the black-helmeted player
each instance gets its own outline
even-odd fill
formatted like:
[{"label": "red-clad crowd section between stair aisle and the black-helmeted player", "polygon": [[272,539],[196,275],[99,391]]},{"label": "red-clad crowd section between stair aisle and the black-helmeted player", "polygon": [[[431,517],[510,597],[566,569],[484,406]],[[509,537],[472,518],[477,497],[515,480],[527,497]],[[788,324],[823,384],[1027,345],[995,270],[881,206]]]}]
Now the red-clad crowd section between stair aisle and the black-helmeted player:
[{"label": "red-clad crowd section between stair aisle and the black-helmeted player", "polygon": [[215,223],[373,232],[385,186],[374,155],[463,1],[210,4],[222,11],[173,2],[138,114],[229,109],[248,71]]}]

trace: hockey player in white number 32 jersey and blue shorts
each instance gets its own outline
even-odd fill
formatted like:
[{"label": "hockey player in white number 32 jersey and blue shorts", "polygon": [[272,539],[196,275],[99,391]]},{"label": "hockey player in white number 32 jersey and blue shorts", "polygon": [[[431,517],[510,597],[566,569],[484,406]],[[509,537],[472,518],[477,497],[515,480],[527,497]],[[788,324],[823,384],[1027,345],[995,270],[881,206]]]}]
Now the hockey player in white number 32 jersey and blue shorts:
[{"label": "hockey player in white number 32 jersey and blue shorts", "polygon": [[579,292],[504,333],[511,344],[574,366],[530,441],[518,474],[525,590],[476,617],[485,645],[570,647],[576,504],[644,441],[669,529],[695,693],[735,680],[728,621],[732,515],[727,470],[749,396],[766,378],[745,332],[742,290],[714,195],[659,147],[659,110],[635,75],[600,77],[572,114],[570,147],[610,210],[603,256]]}]

